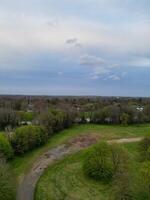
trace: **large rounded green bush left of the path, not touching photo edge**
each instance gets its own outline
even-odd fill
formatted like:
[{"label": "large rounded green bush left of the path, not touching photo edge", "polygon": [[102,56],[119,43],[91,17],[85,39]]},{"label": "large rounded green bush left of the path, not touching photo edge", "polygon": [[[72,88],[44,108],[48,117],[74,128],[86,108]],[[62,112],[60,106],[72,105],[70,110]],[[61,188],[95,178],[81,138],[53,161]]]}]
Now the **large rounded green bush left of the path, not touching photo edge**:
[{"label": "large rounded green bush left of the path, not touching photo edge", "polygon": [[24,154],[46,143],[47,133],[40,126],[22,126],[12,136],[12,146],[16,154]]}]

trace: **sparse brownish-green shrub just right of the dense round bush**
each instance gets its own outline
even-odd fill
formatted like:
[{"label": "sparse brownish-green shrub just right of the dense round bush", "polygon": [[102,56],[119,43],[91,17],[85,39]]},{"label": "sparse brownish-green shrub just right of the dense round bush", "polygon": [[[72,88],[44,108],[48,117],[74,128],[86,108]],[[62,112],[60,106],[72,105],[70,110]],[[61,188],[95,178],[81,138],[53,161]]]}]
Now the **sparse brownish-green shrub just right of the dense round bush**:
[{"label": "sparse brownish-green shrub just right of the dense round bush", "polygon": [[114,200],[132,200],[132,177],[130,174],[129,156],[127,152],[119,147],[112,146],[112,155],[114,163]]}]

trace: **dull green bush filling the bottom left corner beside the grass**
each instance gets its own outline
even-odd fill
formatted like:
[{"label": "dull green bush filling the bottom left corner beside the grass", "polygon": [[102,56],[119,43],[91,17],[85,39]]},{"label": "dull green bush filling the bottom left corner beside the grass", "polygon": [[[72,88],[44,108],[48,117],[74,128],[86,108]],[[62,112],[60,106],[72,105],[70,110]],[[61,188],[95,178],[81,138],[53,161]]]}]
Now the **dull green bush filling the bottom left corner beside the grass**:
[{"label": "dull green bush filling the bottom left corner beside the grass", "polygon": [[5,163],[0,162],[0,200],[16,199],[16,180]]}]

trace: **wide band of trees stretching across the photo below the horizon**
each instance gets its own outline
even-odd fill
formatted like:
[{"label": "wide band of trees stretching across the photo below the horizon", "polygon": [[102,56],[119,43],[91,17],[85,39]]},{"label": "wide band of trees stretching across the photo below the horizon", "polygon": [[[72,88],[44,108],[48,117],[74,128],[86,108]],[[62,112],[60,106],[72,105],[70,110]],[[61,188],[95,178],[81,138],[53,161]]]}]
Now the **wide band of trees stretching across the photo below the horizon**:
[{"label": "wide band of trees stretching across the photo below the horizon", "polygon": [[[48,112],[49,110],[51,112]],[[59,119],[53,120],[55,117]],[[65,118],[63,125],[61,125],[62,118]],[[63,127],[70,126],[70,123],[147,122],[150,122],[149,98],[15,96],[0,98],[0,130],[10,131],[20,125],[42,123],[49,132],[52,132],[48,128],[50,125],[54,132],[57,132]]]}]

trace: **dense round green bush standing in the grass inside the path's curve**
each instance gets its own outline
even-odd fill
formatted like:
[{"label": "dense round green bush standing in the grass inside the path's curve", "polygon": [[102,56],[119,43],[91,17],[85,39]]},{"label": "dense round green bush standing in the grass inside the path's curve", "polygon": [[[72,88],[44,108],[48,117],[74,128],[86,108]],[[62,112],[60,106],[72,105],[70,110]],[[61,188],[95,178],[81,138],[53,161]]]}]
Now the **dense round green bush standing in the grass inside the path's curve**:
[{"label": "dense round green bush standing in the grass inside the path's curve", "polygon": [[114,172],[110,146],[105,142],[95,145],[84,160],[83,170],[95,180],[110,181]]}]

